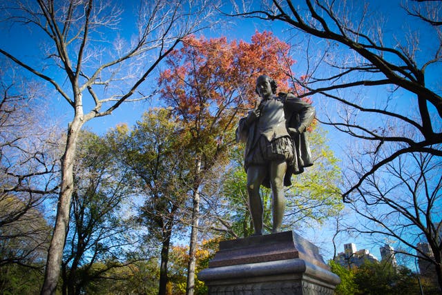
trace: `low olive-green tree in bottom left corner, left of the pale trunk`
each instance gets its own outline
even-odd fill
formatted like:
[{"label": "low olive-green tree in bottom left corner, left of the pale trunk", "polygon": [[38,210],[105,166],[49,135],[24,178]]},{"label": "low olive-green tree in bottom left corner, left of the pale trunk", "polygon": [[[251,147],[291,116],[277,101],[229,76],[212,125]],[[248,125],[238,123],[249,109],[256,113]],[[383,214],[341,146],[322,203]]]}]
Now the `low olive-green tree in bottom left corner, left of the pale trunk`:
[{"label": "low olive-green tree in bottom left corner, left of the pale trunk", "polygon": [[15,194],[0,201],[1,215],[15,216],[0,227],[0,294],[30,295],[41,288],[50,226],[37,207],[27,205]]}]

